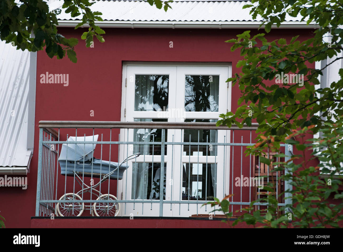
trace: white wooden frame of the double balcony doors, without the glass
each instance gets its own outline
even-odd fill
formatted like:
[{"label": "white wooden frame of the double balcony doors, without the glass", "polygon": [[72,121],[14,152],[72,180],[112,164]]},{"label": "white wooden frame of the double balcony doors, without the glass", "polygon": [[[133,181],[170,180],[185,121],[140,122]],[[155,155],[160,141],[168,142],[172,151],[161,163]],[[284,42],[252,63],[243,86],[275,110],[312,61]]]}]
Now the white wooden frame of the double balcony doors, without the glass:
[{"label": "white wooden frame of the double balcony doors, without the glass", "polygon": [[[139,69],[139,70],[137,70]],[[169,90],[168,90],[168,107],[184,110],[184,99],[185,99],[185,75],[220,75],[220,98],[218,101],[218,112],[184,112],[184,118],[168,118],[168,122],[183,122],[184,119],[219,119],[219,114],[226,113],[231,110],[231,83],[227,85],[227,78],[231,77],[232,67],[229,63],[143,63],[143,62],[128,62],[123,63],[122,69],[122,99],[121,99],[121,121],[133,121],[134,118],[158,118],[157,114],[161,115],[161,112],[157,111],[134,111],[134,74],[168,74],[169,75]],[[134,74],[133,74],[134,73]],[[133,76],[132,76],[133,75]],[[171,88],[176,85],[176,88]],[[129,94],[132,94],[132,99],[129,98]],[[223,94],[225,94],[223,96]],[[175,101],[174,98],[175,97]],[[223,99],[223,97],[225,97]],[[167,141],[179,142],[183,141],[184,130],[168,130]],[[129,141],[133,140],[133,129],[129,131]],[[230,141],[230,131],[229,130],[220,130],[218,131],[218,142],[223,142],[224,137],[225,142]],[[120,141],[127,141],[127,130],[122,129],[120,131]],[[129,145],[130,148],[130,145]],[[130,148],[133,149],[132,146]],[[120,148],[120,160],[126,157],[127,151],[130,155],[130,149],[127,150],[126,145]],[[226,146],[224,154],[224,148],[219,147],[217,156],[208,156],[208,164],[217,163],[217,185],[216,185],[216,196],[218,198],[224,197],[229,193],[229,172],[230,172],[230,147]],[[167,153],[165,153],[165,163],[166,171],[173,170],[166,173],[166,200],[179,200],[180,193],[180,183],[179,180],[181,167],[180,162],[188,163],[189,160],[191,163],[206,163],[206,156],[184,156],[180,157],[180,146],[174,146],[174,155],[173,155],[173,169],[171,169],[171,147],[168,146]],[[132,151],[131,151],[132,153]],[[205,154],[204,154],[205,155]],[[223,164],[223,158],[225,156],[225,167]],[[140,156],[137,158],[137,162],[151,162],[152,156]],[[181,158],[181,160],[180,160]],[[154,156],[154,163],[161,162],[160,156]],[[178,164],[178,165],[175,165]],[[222,164],[222,166],[221,166]],[[124,173],[122,180],[118,180],[118,195],[119,199],[131,199],[131,186],[132,186],[132,162],[129,162],[129,169],[127,173]],[[126,177],[127,174],[127,177]],[[173,176],[173,180],[171,180]],[[126,186],[127,179],[127,186]],[[173,181],[173,191],[171,191],[168,182]],[[223,189],[223,183],[226,185]],[[127,190],[127,191],[126,191]],[[158,201],[156,201],[157,203]],[[168,206],[167,206],[168,205]],[[164,204],[163,206],[163,216],[174,216],[174,217],[189,217],[192,214],[197,213],[209,213],[210,207],[197,206],[196,204],[181,204],[181,209],[179,209],[180,204],[172,204],[172,211],[170,211],[170,204]],[[153,204],[153,210],[151,210],[151,204],[145,203],[144,209],[142,209],[142,203],[135,204],[135,210],[133,210],[133,204],[127,203],[125,210],[125,203],[122,204],[120,216],[130,216],[130,213],[133,213],[134,216],[158,216],[159,205]],[[142,215],[142,211],[144,215]],[[179,214],[180,213],[180,214]]]}]

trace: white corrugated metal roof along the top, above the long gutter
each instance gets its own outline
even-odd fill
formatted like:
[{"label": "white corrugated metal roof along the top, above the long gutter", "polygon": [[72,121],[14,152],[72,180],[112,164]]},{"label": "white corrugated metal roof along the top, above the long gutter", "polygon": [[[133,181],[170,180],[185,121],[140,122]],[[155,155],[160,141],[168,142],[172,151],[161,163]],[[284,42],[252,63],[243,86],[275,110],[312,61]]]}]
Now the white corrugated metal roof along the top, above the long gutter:
[{"label": "white corrugated metal roof along the top, above the long gutter", "polygon": [[[62,0],[50,0],[50,10],[60,8]],[[150,6],[146,1],[96,0],[92,11],[100,11],[104,21],[262,21],[252,20],[250,8],[242,9],[250,1],[175,1],[173,9],[165,12]],[[255,3],[257,4],[257,3]],[[81,15],[72,18],[62,10],[59,20],[79,20]],[[286,14],[286,21],[300,21],[301,16],[293,18]]]}]

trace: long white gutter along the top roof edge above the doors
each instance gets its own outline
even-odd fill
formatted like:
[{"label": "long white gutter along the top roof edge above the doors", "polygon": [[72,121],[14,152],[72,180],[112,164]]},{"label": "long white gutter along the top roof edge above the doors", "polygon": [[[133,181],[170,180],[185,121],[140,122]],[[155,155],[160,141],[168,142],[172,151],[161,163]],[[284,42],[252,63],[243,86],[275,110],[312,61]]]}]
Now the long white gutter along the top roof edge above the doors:
[{"label": "long white gutter along the top roof edge above the doors", "polygon": [[[59,20],[59,27],[75,27],[80,20]],[[202,28],[202,29],[240,29],[253,28],[258,29],[261,22],[259,21],[95,21],[95,24],[103,28]],[[81,27],[89,27],[88,24]],[[264,27],[264,25],[262,26]],[[277,28],[272,25],[272,28]],[[306,21],[287,21],[281,23],[281,29],[317,29],[319,25],[311,22],[309,25]]]}]

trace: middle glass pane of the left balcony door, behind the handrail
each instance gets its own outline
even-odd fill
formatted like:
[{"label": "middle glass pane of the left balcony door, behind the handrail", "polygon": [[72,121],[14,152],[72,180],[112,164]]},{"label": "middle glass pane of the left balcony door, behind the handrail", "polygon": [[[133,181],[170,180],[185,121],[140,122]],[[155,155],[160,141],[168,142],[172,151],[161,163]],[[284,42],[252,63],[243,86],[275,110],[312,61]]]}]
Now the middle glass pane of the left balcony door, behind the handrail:
[{"label": "middle glass pane of the left balcony door, behind the handrail", "polygon": [[[167,122],[168,119],[134,119],[135,122]],[[167,130],[165,130],[165,140],[167,139]],[[161,142],[162,129],[133,129],[134,142]],[[140,152],[141,155],[161,155],[161,145],[138,144],[133,145],[133,153]],[[165,145],[164,153],[167,155],[167,145]]]}]

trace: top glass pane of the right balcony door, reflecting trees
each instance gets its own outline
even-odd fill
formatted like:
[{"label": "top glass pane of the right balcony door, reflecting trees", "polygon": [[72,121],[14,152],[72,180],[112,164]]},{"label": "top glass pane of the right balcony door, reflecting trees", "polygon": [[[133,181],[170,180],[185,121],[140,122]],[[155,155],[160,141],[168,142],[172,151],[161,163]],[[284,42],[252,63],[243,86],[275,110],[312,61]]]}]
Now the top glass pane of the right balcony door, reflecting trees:
[{"label": "top glass pane of the right balcony door, reflecting trees", "polygon": [[219,75],[186,75],[185,111],[218,112]]}]

